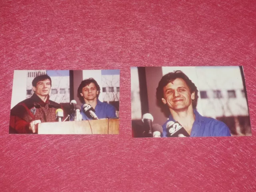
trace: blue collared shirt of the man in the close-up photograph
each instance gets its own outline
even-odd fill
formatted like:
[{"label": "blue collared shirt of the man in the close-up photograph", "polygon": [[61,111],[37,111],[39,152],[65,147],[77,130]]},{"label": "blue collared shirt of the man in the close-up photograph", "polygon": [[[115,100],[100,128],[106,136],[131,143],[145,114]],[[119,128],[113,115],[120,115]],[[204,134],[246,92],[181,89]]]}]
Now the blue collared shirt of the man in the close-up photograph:
[{"label": "blue collared shirt of the man in the close-up photograph", "polygon": [[[192,126],[190,137],[217,137],[217,136],[231,136],[230,130],[226,124],[213,118],[203,117],[197,110],[194,109],[195,121]],[[167,137],[166,124],[169,121],[174,121],[172,115],[163,124],[163,134],[162,137]]]}]

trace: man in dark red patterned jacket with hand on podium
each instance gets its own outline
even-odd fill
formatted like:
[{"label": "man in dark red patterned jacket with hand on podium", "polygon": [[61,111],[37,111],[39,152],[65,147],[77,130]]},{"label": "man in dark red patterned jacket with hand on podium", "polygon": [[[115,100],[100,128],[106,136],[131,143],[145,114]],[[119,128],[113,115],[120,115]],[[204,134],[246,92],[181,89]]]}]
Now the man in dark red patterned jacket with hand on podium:
[{"label": "man in dark red patterned jacket with hand on podium", "polygon": [[32,81],[34,94],[11,109],[10,133],[37,133],[38,123],[55,122],[60,104],[49,100],[52,80],[48,75],[37,76]]}]

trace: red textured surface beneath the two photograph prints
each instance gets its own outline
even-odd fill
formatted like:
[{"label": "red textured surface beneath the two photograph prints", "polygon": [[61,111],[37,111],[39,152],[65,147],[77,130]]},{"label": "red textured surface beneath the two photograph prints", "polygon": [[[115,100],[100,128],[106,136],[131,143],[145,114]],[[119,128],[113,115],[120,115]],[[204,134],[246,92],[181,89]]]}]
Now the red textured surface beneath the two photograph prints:
[{"label": "red textured surface beneath the two photograph prints", "polygon": [[[1,191],[256,190],[256,2],[0,3]],[[130,66],[244,66],[252,137],[132,138]],[[9,135],[14,70],[120,69],[119,135]]]}]

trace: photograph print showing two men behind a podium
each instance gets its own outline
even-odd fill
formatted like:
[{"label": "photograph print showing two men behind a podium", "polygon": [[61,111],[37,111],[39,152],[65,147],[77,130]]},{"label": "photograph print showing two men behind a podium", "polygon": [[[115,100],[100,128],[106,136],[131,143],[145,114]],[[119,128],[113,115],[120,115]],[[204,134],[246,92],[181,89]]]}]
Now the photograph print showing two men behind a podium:
[{"label": "photograph print showing two men behind a podium", "polygon": [[120,70],[14,70],[9,134],[119,134]]}]

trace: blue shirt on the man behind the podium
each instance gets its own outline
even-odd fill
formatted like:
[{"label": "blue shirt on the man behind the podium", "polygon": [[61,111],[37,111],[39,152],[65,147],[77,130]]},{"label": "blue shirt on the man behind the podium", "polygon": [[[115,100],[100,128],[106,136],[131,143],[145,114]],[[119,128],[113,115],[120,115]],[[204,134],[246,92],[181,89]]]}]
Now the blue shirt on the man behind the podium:
[{"label": "blue shirt on the man behind the podium", "polygon": [[[83,108],[83,105],[81,106],[81,109]],[[95,114],[99,119],[104,119],[104,118],[116,118],[116,108],[114,106],[100,102],[100,100],[97,100],[97,105],[95,107]],[[82,110],[81,112],[83,120],[92,120],[92,118],[88,118],[84,111]]]}]

